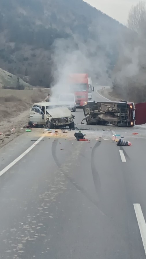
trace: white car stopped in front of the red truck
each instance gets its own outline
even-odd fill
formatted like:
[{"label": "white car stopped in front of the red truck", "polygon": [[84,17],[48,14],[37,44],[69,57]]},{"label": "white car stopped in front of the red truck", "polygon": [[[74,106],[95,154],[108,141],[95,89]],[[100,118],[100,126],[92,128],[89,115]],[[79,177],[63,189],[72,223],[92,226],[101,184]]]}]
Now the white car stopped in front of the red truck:
[{"label": "white car stopped in front of the red truck", "polygon": [[74,94],[60,94],[58,101],[59,104],[68,107],[70,111],[76,111],[76,100]]}]

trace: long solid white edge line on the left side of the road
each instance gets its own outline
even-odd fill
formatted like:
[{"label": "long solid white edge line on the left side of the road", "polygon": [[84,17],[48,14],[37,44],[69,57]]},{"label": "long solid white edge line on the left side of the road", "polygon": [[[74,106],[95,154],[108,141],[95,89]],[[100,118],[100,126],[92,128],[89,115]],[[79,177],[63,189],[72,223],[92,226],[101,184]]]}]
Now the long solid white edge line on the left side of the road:
[{"label": "long solid white edge line on the left side of the road", "polygon": [[21,158],[23,158],[31,149],[33,149],[42,139],[44,136],[40,137],[35,143],[33,143],[25,152],[23,152],[19,157],[17,157],[14,161],[12,161],[9,165],[7,165],[3,170],[0,171],[0,176],[8,171],[13,165],[15,165]]}]

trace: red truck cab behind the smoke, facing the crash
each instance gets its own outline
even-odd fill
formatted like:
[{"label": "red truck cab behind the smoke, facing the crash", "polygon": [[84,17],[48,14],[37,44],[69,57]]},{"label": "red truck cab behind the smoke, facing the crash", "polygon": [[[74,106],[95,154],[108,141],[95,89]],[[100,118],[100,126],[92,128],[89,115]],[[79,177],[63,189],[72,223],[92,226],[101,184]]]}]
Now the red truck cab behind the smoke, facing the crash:
[{"label": "red truck cab behind the smoke, facing the crash", "polygon": [[76,98],[76,107],[83,107],[88,102],[88,74],[70,74],[69,85]]}]

